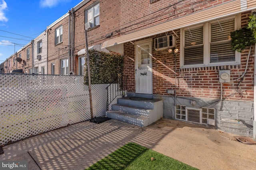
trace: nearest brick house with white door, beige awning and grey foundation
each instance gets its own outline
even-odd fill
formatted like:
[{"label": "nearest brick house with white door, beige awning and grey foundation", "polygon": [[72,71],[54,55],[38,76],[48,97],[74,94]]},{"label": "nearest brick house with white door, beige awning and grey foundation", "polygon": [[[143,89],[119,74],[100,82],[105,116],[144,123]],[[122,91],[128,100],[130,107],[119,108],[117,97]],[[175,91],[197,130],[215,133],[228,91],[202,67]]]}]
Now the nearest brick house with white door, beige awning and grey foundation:
[{"label": "nearest brick house with white door, beige awning and grey foundation", "polygon": [[128,92],[163,100],[164,117],[255,137],[255,48],[230,45],[230,31],[255,8],[252,0],[121,1],[121,26],[102,48],[123,50]]}]

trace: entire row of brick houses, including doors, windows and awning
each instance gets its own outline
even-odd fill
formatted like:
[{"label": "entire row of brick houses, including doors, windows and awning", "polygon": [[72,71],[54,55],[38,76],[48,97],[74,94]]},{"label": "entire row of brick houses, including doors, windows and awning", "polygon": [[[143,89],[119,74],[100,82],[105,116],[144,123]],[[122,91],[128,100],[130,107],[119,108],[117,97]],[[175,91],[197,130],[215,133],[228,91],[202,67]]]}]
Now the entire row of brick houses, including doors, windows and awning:
[{"label": "entire row of brick houses, including doors, windows and awning", "polygon": [[163,100],[166,118],[256,138],[255,47],[230,45],[255,10],[254,0],[83,0],[47,27],[46,72],[83,75],[86,24],[90,48],[124,55],[129,95]]}]

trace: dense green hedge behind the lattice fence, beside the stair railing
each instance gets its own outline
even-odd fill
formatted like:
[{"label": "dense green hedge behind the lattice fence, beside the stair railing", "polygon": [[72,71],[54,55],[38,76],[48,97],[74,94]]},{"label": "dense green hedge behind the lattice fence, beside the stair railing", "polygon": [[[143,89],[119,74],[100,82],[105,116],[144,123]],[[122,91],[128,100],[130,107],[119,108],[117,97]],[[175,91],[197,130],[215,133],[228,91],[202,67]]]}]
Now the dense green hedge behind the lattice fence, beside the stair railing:
[{"label": "dense green hedge behind the lattice fence, beside the stair railing", "polygon": [[[123,56],[105,53],[97,50],[88,50],[90,57],[91,84],[108,84],[122,75]],[[88,85],[87,63],[84,67],[84,82]]]}]

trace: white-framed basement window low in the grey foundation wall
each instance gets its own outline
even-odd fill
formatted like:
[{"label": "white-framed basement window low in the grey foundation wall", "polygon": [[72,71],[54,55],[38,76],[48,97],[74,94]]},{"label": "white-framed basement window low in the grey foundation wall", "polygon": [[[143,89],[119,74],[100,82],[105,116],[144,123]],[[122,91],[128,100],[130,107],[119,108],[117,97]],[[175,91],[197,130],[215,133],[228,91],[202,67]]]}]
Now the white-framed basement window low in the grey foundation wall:
[{"label": "white-framed basement window low in the grey foundation wall", "polygon": [[205,107],[198,109],[176,105],[176,119],[215,125],[215,109]]}]

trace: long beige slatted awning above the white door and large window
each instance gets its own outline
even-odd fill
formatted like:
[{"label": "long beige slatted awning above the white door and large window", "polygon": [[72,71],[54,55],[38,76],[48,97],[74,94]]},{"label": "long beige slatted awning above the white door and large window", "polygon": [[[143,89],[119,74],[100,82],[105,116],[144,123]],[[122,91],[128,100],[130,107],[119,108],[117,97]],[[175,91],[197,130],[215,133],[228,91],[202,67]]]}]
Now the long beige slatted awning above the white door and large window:
[{"label": "long beige slatted awning above the white door and large window", "polygon": [[194,12],[184,17],[175,18],[140,31],[109,39],[101,44],[101,48],[116,47],[118,44],[134,41],[136,39],[150,37],[152,35],[165,33],[167,31],[180,29],[182,27],[203,23],[253,9],[256,9],[256,0],[235,0],[210,9]]}]

